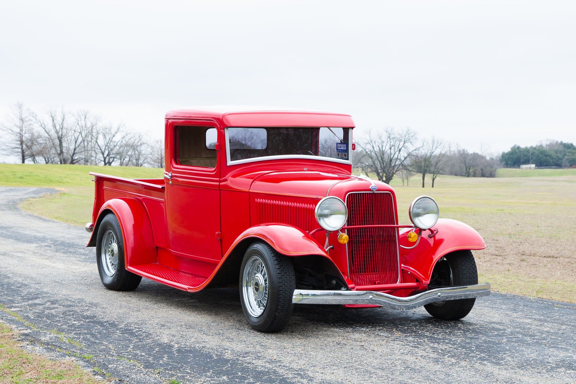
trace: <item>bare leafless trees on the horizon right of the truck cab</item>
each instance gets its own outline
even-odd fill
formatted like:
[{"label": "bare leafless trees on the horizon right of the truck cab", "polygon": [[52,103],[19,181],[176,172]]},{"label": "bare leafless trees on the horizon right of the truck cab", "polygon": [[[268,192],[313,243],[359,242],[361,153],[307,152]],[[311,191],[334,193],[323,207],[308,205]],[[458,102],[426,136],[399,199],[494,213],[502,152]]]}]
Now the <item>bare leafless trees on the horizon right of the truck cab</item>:
[{"label": "bare leafless trees on the horizon right of the truck cab", "polygon": [[399,177],[402,185],[416,175],[426,185],[426,177],[434,182],[439,174],[465,177],[495,177],[500,166],[498,157],[469,152],[438,138],[418,140],[416,132],[406,128],[369,131],[359,141],[355,167],[364,173],[376,174],[389,184]]}]

